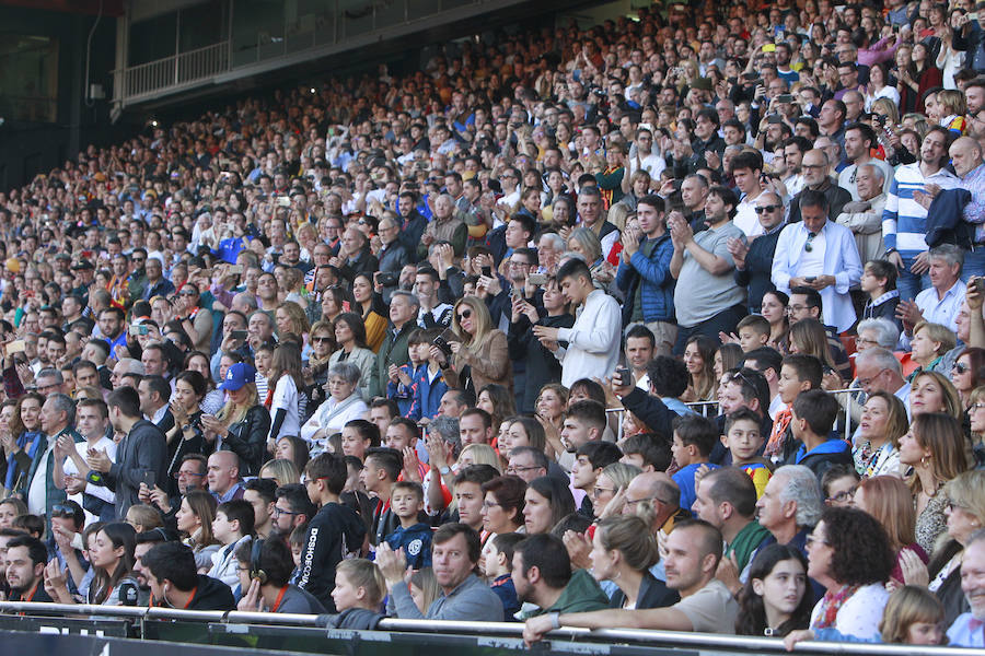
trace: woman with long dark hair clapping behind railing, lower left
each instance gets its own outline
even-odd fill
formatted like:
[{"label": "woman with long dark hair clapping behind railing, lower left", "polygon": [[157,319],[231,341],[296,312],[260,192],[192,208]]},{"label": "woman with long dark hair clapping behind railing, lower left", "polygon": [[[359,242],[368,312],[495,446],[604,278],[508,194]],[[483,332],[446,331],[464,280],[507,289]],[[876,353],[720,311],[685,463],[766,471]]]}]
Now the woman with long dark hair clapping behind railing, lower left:
[{"label": "woman with long dark hair clapping behind railing, lower left", "polygon": [[[136,536],[134,527],[124,522],[106,524],[95,534],[89,549],[89,560],[95,576],[89,585],[88,604],[135,605],[138,591],[137,579],[134,577]],[[76,604],[57,560],[53,560],[45,567],[45,591],[56,604]]]}]

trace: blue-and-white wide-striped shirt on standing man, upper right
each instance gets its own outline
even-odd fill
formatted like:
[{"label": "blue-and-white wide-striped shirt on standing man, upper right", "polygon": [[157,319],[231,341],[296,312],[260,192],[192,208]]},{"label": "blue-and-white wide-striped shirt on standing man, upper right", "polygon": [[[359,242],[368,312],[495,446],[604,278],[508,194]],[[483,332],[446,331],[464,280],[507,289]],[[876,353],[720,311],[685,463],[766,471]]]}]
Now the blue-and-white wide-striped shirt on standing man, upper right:
[{"label": "blue-and-white wide-striped shirt on standing man, upper right", "polygon": [[953,189],[960,181],[953,173],[941,168],[924,176],[919,162],[896,168],[882,211],[882,238],[887,248],[901,254],[924,253],[927,246],[927,210],[913,198],[913,192],[934,183],[941,189]]}]

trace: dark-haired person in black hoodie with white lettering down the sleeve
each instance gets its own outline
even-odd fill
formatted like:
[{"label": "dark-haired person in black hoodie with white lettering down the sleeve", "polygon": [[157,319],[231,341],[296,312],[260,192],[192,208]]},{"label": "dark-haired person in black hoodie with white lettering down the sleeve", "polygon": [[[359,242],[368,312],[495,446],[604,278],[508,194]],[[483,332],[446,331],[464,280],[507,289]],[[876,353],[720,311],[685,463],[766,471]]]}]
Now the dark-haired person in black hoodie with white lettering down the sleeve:
[{"label": "dark-haired person in black hoodie with white lettering down the sleeve", "polygon": [[320,509],[308,525],[298,587],[313,595],[328,612],[335,612],[335,567],[343,559],[359,555],[366,540],[362,519],[338,502],[347,478],[346,461],[335,454],[324,453],[304,468],[308,496]]}]

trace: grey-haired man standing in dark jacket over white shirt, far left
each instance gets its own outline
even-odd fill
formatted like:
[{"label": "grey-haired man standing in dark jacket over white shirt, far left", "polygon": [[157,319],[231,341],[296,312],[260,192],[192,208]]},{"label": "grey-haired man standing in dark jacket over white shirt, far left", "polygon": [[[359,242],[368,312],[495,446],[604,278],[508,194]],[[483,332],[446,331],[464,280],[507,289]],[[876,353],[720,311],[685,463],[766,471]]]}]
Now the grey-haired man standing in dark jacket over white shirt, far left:
[{"label": "grey-haired man standing in dark jacket over white shirt, far left", "polygon": [[65,458],[74,444],[85,438],[76,429],[76,403],[65,394],[48,396],[40,410],[40,430],[47,438],[44,455],[35,458],[27,472],[27,512],[47,517],[50,530],[50,511],[67,499],[65,490],[55,487],[55,459]]}]

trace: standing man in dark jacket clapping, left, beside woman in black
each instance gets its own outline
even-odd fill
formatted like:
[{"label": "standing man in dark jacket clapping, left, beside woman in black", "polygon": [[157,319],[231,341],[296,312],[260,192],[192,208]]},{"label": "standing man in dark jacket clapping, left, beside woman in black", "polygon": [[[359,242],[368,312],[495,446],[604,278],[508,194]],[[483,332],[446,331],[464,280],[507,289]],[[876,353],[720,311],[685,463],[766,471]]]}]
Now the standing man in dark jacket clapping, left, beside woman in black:
[{"label": "standing man in dark jacket clapping, left, beside woman in black", "polygon": [[[116,516],[123,520],[127,511],[139,503],[140,483],[153,488],[167,476],[167,444],[161,429],[142,418],[140,397],[132,387],[120,387],[106,398],[109,422],[126,437],[116,450],[116,462],[105,450],[90,453],[90,469],[102,475],[101,481],[116,492]],[[92,476],[92,475],[90,475]]]}]

